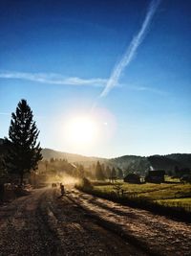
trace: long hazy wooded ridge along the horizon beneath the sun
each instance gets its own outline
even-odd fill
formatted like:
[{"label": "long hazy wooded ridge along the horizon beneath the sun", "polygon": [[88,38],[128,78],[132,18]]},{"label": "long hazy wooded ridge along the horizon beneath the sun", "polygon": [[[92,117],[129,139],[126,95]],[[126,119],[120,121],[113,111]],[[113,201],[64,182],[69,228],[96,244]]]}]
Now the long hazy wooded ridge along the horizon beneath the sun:
[{"label": "long hazy wooded ridge along the horizon beneath the sun", "polygon": [[125,173],[138,172],[142,175],[149,169],[162,169],[167,172],[173,172],[176,166],[179,168],[191,168],[191,153],[172,153],[167,155],[151,155],[148,157],[123,155],[111,159],[53,151],[51,149],[43,149],[42,154],[44,159],[65,158],[71,163],[77,162],[85,166],[100,161],[101,163],[121,168]]}]

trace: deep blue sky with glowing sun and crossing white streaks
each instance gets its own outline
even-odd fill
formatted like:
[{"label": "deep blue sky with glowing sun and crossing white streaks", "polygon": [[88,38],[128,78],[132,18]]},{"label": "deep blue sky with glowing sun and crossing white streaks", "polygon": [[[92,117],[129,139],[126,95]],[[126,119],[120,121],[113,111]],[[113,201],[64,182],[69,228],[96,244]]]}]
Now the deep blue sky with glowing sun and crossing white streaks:
[{"label": "deep blue sky with glowing sun and crossing white streaks", "polygon": [[1,0],[0,137],[26,99],[43,148],[190,153],[190,12],[189,0]]}]

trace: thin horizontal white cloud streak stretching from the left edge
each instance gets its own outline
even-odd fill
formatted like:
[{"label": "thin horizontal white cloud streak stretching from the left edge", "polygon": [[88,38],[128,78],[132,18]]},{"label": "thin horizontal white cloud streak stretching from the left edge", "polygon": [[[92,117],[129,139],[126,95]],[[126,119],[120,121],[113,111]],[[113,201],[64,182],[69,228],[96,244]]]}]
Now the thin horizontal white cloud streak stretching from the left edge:
[{"label": "thin horizontal white cloud streak stretching from the left edge", "polygon": [[37,81],[41,83],[61,84],[61,85],[86,85],[103,87],[106,85],[106,79],[80,79],[77,77],[66,78],[54,73],[24,73],[16,71],[0,71],[0,79],[18,79],[26,81]]}]

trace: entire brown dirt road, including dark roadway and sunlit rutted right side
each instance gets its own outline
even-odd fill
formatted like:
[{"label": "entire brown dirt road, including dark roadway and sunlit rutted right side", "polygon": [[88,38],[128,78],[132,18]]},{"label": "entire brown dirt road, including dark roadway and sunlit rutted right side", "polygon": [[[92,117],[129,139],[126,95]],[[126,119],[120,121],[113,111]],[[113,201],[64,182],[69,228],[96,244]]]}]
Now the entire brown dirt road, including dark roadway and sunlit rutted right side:
[{"label": "entire brown dirt road, including dark roadway and sunlit rutted right side", "polygon": [[[0,207],[0,255],[190,255],[190,225],[69,191]],[[165,242],[166,241],[166,242]]]}]

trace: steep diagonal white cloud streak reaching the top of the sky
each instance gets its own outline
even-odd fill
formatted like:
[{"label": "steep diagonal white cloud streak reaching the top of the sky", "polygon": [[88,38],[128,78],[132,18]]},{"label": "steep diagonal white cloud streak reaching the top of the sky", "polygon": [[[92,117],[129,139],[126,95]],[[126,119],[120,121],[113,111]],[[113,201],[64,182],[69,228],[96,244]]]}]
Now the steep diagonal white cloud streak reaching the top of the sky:
[{"label": "steep diagonal white cloud streak reaching the top of the sky", "polygon": [[127,47],[126,52],[124,53],[123,57],[120,59],[119,63],[117,63],[117,66],[114,68],[114,71],[112,72],[110,79],[108,80],[105,88],[102,90],[99,97],[106,96],[110,92],[110,90],[117,85],[122,71],[124,70],[125,67],[127,67],[131,63],[132,59],[135,57],[138,50],[138,46],[141,44],[142,40],[146,35],[146,32],[148,31],[152,18],[159,7],[159,3],[160,3],[160,0],[153,0],[150,3],[145,19],[138,32],[138,35],[136,35],[133,38],[130,45]]}]

